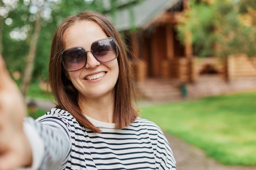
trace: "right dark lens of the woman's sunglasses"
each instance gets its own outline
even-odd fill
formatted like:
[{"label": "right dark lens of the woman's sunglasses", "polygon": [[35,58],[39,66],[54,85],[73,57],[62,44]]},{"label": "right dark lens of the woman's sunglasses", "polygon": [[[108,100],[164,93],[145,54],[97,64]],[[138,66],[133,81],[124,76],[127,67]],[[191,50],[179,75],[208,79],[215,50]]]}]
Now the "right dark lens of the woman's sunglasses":
[{"label": "right dark lens of the woman's sunglasses", "polygon": [[117,57],[116,44],[112,38],[100,40],[92,44],[92,52],[101,62],[108,62]]}]

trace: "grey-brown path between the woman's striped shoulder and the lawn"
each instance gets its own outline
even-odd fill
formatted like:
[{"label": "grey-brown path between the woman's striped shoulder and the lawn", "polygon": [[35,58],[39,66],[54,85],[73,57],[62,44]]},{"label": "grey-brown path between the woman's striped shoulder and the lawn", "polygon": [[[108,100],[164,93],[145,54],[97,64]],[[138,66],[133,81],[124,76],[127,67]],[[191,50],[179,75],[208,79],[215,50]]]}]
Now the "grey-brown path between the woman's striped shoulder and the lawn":
[{"label": "grey-brown path between the woman's striped shoulder and the lawn", "polygon": [[165,133],[177,162],[177,170],[256,170],[256,166],[224,166],[205,156],[204,152]]}]

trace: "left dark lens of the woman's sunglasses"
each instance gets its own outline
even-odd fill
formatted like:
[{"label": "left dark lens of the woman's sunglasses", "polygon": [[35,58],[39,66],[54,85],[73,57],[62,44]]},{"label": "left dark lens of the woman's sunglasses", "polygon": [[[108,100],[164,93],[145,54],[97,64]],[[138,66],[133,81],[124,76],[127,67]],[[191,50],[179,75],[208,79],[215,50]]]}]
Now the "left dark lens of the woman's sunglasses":
[{"label": "left dark lens of the woman's sunglasses", "polygon": [[76,71],[86,64],[86,54],[81,47],[69,49],[62,54],[62,60],[68,71]]}]

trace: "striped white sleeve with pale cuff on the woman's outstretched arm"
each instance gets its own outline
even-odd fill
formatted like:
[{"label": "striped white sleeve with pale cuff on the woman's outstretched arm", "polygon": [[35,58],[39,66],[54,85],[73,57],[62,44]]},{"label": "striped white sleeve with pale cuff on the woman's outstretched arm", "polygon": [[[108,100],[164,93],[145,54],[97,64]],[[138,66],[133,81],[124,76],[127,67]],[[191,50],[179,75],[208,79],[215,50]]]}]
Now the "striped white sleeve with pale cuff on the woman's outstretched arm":
[{"label": "striped white sleeve with pale cuff on the woman's outstretched arm", "polygon": [[60,118],[45,117],[35,122],[25,118],[23,129],[32,150],[33,163],[29,168],[18,170],[63,169],[71,151],[70,132]]}]

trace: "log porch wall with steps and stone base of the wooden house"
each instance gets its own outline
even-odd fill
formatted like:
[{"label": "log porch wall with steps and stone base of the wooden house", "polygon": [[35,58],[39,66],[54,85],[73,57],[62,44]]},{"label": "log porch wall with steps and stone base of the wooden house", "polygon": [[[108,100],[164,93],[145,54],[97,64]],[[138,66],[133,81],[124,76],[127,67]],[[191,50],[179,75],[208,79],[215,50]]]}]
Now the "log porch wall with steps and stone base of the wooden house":
[{"label": "log porch wall with steps and stone base of the wooden house", "polygon": [[[182,101],[239,91],[256,90],[256,58],[246,55],[177,58],[161,63],[161,76],[146,77],[146,63],[137,63],[138,94],[155,102]],[[181,86],[186,85],[186,97]]]}]

